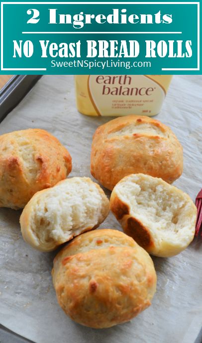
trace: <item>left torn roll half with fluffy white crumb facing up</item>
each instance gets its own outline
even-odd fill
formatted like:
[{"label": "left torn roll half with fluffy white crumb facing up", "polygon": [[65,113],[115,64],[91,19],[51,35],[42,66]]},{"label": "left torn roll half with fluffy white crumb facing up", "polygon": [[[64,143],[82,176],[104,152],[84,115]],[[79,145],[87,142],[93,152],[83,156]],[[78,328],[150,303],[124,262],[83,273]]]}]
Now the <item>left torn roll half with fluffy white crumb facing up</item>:
[{"label": "left torn roll half with fluffy white crumb facing up", "polygon": [[109,200],[89,177],[72,177],[34,194],[20,216],[24,240],[41,251],[54,250],[82,232],[97,228]]}]

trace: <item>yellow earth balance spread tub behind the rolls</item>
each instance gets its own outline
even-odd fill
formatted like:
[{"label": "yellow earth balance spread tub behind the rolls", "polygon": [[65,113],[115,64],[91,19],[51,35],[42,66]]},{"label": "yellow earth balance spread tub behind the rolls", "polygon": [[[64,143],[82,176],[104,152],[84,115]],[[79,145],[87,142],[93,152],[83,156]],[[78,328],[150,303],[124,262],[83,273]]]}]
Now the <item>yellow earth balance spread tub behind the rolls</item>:
[{"label": "yellow earth balance spread tub behind the rolls", "polygon": [[76,75],[78,111],[88,116],[155,116],[172,75]]}]

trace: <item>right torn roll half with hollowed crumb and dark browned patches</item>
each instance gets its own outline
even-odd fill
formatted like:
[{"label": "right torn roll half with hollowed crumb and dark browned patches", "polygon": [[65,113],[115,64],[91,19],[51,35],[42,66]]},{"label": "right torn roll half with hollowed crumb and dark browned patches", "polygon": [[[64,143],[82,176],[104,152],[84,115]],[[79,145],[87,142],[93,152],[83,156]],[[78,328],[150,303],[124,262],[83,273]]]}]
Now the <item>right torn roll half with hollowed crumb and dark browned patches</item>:
[{"label": "right torn roll half with hollowed crumb and dark browned patches", "polygon": [[194,238],[194,202],[161,178],[144,174],[124,177],[111,193],[110,208],[124,232],[152,255],[177,255]]}]

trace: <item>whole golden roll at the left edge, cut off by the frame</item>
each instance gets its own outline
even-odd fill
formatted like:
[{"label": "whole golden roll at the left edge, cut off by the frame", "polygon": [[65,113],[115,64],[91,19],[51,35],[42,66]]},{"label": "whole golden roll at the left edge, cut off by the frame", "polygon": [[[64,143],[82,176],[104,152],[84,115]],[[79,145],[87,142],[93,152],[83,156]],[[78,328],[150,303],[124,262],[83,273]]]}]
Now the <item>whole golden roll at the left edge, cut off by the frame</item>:
[{"label": "whole golden roll at the left edge, cut off by the frame", "polygon": [[45,130],[0,136],[0,207],[23,208],[34,193],[52,187],[71,170],[69,152]]}]

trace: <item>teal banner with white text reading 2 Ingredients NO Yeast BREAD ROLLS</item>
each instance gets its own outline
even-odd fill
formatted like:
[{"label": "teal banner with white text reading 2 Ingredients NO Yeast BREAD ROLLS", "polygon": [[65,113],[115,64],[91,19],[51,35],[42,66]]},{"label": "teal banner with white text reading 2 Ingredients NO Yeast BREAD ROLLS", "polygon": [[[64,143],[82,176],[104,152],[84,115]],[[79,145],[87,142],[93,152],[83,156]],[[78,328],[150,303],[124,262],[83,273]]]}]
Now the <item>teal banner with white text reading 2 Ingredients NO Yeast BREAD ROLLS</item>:
[{"label": "teal banner with white text reading 2 Ingredients NO Yeast BREAD ROLLS", "polygon": [[1,1],[1,74],[201,74],[200,1]]}]

